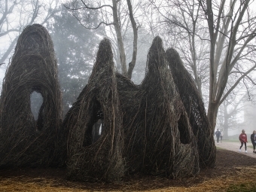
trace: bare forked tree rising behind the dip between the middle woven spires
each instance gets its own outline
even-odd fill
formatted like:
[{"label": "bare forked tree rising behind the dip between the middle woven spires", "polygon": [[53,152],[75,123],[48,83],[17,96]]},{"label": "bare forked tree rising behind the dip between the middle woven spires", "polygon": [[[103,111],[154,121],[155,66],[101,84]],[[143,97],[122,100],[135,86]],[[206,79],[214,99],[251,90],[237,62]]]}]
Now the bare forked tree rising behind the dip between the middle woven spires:
[{"label": "bare forked tree rising behind the dip between the middle woven spires", "polygon": [[[126,0],[125,4],[123,1],[119,0],[112,0],[107,3],[105,3],[105,1],[76,0],[70,4],[66,4],[66,8],[72,10],[74,16],[87,29],[97,29],[99,26],[110,27],[108,29],[108,33],[110,35],[114,34],[114,39],[112,39],[112,41],[115,41],[117,44],[118,53],[116,53],[116,55],[119,56],[116,60],[117,66],[120,65],[122,74],[131,79],[134,66],[136,65],[139,28],[134,17],[135,8],[133,7],[132,2],[130,0]],[[90,22],[84,23],[84,21],[92,18],[90,14],[92,14],[93,11],[100,15],[101,20],[99,20],[97,24]],[[82,18],[84,14],[87,14],[87,18]],[[114,30],[111,26],[114,26]],[[133,29],[133,56],[127,69],[123,38],[126,30],[128,30],[130,26],[132,26]]]}]

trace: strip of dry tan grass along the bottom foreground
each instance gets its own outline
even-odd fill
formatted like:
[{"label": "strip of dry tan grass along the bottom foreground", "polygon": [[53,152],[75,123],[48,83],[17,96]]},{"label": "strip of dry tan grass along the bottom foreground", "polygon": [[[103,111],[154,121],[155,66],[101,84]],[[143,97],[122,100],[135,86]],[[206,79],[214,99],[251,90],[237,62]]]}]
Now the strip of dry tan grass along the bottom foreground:
[{"label": "strip of dry tan grass along the bottom foreground", "polygon": [[[1,178],[1,191],[256,191],[253,175],[256,166],[242,166],[225,172],[218,178],[203,178],[190,186],[173,186],[166,178],[154,178],[150,182],[143,178],[132,183],[123,181],[121,184],[91,184],[63,181],[61,179],[31,178],[26,176]],[[189,178],[188,178],[189,179]],[[171,180],[172,181],[172,180]],[[171,182],[170,182],[171,183]],[[145,187],[148,184],[148,188]]]}]

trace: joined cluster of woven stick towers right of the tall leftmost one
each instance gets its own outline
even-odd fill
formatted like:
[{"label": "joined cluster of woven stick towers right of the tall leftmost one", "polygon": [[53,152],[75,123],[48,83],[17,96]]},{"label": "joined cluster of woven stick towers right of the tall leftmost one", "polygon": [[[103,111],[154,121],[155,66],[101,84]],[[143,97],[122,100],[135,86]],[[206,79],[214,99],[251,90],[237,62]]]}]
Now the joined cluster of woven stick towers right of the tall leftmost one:
[{"label": "joined cluster of woven stick towers right of the tall leftmost one", "polygon": [[[190,86],[194,102],[200,103],[197,110],[187,110],[191,103],[187,104],[186,98],[180,96],[175,84],[179,77],[174,73],[172,78],[168,64],[173,61],[168,51],[163,50],[162,40],[154,39],[148,52],[147,73],[139,86],[123,75],[114,74],[111,46],[106,42],[99,45],[90,81],[64,120],[65,130],[69,130],[70,178],[116,181],[125,172],[181,178],[196,175],[200,166],[213,166],[215,145],[209,126],[205,127],[208,121],[203,102],[194,85],[189,84],[190,79],[184,78],[181,83]],[[195,104],[193,107],[196,108]],[[104,114],[101,117],[104,130],[99,140],[93,142],[98,111]],[[191,126],[191,116],[197,119],[197,126],[196,123]],[[109,123],[114,117],[118,117],[116,123]],[[199,131],[201,137],[196,134]],[[116,134],[111,136],[111,133]],[[119,156],[111,154],[110,146],[114,146]]]}]

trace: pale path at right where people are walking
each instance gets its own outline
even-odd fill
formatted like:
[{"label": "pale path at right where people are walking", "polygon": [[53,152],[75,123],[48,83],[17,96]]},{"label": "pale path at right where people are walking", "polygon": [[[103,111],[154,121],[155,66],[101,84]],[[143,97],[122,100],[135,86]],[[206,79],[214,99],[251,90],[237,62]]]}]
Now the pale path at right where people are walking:
[{"label": "pale path at right where people are walking", "polygon": [[219,143],[217,143],[215,141],[215,145],[216,145],[217,148],[223,148],[223,149],[227,149],[229,151],[235,151],[237,153],[245,154],[245,155],[247,155],[249,157],[256,158],[256,154],[254,154],[252,152],[253,149],[252,148],[248,148],[249,146],[252,147],[251,142],[247,143],[247,153],[245,153],[245,146],[242,146],[242,150],[241,150],[241,152],[239,152],[239,148],[240,148],[240,145],[241,145],[239,141],[237,141],[237,142],[225,142],[225,141],[222,141],[222,142],[219,142]]}]

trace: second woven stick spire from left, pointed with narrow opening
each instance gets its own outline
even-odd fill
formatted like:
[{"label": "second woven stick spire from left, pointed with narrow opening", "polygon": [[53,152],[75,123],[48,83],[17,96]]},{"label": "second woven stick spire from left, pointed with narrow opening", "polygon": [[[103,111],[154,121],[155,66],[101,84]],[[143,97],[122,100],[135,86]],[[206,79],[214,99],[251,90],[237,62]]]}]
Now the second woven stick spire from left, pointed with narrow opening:
[{"label": "second woven stick spire from left, pointed with narrow opening", "polygon": [[[93,124],[103,118],[102,134],[93,142]],[[122,118],[111,43],[104,39],[88,84],[63,122],[69,179],[120,180],[124,174]]]}]

